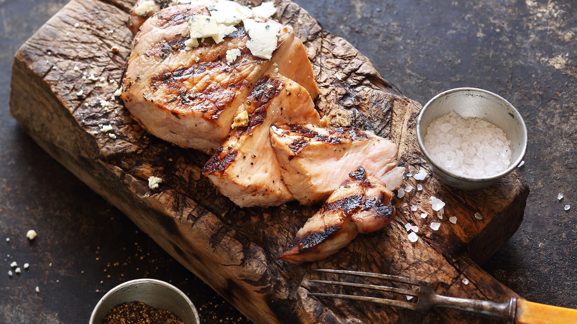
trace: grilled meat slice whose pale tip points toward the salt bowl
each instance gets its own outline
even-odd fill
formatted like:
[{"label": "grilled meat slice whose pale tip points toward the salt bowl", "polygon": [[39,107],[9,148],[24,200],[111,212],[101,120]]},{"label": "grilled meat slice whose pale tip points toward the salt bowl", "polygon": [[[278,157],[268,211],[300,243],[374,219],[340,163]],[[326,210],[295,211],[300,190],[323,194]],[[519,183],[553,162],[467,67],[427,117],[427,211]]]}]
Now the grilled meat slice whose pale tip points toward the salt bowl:
[{"label": "grilled meat slice whose pale tip points toward the salt bowl", "polygon": [[355,165],[364,165],[377,179],[387,179],[393,184],[389,189],[402,183],[402,172],[385,177],[397,165],[396,144],[377,135],[352,128],[283,123],[273,125],[270,133],[284,184],[303,205],[327,199]]}]

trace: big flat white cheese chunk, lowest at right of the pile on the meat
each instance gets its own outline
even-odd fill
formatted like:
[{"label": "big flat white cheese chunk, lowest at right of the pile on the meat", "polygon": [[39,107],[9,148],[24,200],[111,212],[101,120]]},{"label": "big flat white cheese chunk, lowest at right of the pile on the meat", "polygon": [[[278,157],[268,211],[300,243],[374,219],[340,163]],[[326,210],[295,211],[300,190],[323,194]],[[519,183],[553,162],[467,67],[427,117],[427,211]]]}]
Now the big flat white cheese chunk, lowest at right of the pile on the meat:
[{"label": "big flat white cheese chunk, lowest at right of the pile on the meat", "polygon": [[280,26],[267,22],[256,22],[253,19],[244,19],[242,22],[250,37],[250,40],[246,42],[246,47],[254,56],[271,59],[272,52],[276,50],[278,43]]}]

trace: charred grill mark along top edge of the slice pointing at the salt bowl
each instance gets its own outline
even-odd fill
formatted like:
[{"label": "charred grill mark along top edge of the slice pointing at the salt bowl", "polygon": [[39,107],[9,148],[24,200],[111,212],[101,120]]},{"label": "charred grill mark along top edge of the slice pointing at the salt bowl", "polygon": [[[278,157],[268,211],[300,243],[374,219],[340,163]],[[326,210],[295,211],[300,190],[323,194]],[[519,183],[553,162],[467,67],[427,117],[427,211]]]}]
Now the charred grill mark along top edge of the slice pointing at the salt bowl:
[{"label": "charred grill mark along top edge of the slice pointing at the salt bowl", "polygon": [[285,134],[291,136],[301,136],[299,138],[295,138],[291,144],[288,145],[288,148],[294,153],[294,155],[298,155],[302,149],[304,149],[310,141],[305,141],[304,138],[310,138],[314,141],[324,142],[329,145],[342,145],[342,144],[350,144],[354,141],[370,141],[370,136],[355,128],[347,128],[347,127],[338,127],[335,129],[327,129],[329,135],[319,134],[312,129],[308,129],[306,127],[300,125],[293,125],[293,124],[275,124],[275,126],[279,129],[283,129]]}]

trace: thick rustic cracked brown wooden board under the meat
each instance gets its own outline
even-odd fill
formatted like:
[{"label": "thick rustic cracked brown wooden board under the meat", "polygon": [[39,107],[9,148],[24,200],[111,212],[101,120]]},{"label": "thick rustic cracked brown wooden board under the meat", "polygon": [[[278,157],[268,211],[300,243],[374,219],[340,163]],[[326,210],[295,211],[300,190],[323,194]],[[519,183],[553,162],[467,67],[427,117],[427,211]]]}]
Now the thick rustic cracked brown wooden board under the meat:
[{"label": "thick rustic cracked brown wooden board under the meat", "polygon": [[[276,256],[317,207],[296,202],[278,208],[235,207],[201,175],[207,155],[138,130],[122,103],[111,100],[130,54],[126,22],[133,2],[72,0],[63,7],[18,50],[10,112],[50,155],[246,317],[255,323],[487,321],[451,310],[423,317],[379,304],[308,297],[308,291],[323,288],[309,278],[334,278],[312,271],[317,268],[409,276],[432,282],[437,293],[449,296],[502,301],[515,295],[476,263],[486,261],[522,221],[529,188],[517,172],[479,191],[451,189],[430,174],[421,182],[409,178],[406,185],[421,183],[424,189],[396,199],[398,214],[388,227],[359,235],[324,261],[278,261]],[[421,105],[383,80],[364,55],[322,29],[297,4],[275,3],[274,18],[290,25],[308,50],[321,89],[321,115],[330,116],[333,126],[392,138],[399,144],[401,165],[413,174],[419,168],[429,171],[415,140]],[[119,51],[111,51],[113,46]],[[101,133],[99,124],[113,130]],[[151,175],[163,179],[158,189],[148,188]],[[443,220],[430,208],[431,195],[447,203]],[[411,205],[418,210],[411,211]],[[419,217],[422,212],[429,216]],[[477,212],[482,220],[474,218]],[[450,216],[457,217],[456,224],[448,222]],[[441,222],[439,231],[430,229],[432,221]],[[406,223],[419,227],[416,243],[407,239]]]}]

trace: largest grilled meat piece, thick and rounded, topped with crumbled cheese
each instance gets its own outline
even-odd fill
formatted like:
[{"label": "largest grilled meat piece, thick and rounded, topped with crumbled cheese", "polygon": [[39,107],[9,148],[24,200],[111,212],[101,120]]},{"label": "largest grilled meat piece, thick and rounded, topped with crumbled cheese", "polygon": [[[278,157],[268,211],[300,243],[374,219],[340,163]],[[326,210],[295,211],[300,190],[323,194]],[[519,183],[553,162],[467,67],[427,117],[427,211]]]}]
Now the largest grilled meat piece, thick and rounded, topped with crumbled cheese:
[{"label": "largest grilled meat piece, thick and rounded, topped with crumbled cheese", "polygon": [[[250,37],[242,23],[218,44],[207,38],[186,47],[186,18],[193,15],[211,13],[205,5],[168,6],[148,18],[134,39],[121,97],[149,133],[183,148],[214,152],[253,84],[272,66],[317,95],[304,46],[287,27],[263,19],[280,28],[272,58],[263,59],[246,47]],[[237,50],[240,55],[230,61],[227,54]]]}]

